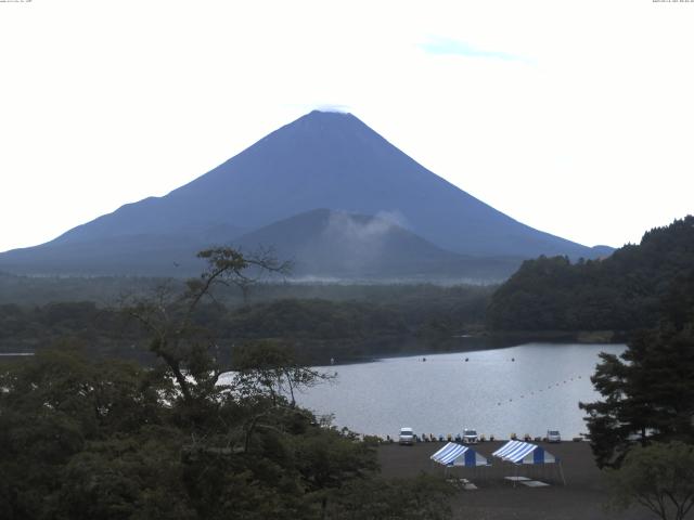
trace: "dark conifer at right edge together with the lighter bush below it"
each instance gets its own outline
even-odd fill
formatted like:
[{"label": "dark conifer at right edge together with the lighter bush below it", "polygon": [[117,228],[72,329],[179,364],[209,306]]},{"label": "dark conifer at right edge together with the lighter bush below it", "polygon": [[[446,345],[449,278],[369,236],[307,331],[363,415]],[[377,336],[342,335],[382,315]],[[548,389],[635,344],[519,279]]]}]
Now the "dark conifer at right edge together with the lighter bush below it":
[{"label": "dark conifer at right edge together with the lighter bush below it", "polygon": [[620,355],[601,354],[580,403],[612,506],[640,504],[663,520],[694,507],[694,269],[677,275],[657,325],[634,333]]}]

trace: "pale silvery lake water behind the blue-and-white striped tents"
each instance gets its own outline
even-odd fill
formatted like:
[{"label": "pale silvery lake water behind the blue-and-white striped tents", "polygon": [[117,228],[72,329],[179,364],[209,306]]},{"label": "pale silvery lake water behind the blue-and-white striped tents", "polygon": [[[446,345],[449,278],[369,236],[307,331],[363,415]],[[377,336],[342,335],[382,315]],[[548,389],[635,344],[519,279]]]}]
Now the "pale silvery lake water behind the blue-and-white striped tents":
[{"label": "pale silvery lake water behind the blue-and-white striped tents", "polygon": [[[297,395],[319,415],[360,433],[448,434],[463,428],[507,438],[558,429],[564,439],[587,432],[578,402],[597,399],[590,376],[600,352],[624,344],[526,343],[503,349],[322,367],[337,379]],[[467,359],[467,361],[465,361]]]}]

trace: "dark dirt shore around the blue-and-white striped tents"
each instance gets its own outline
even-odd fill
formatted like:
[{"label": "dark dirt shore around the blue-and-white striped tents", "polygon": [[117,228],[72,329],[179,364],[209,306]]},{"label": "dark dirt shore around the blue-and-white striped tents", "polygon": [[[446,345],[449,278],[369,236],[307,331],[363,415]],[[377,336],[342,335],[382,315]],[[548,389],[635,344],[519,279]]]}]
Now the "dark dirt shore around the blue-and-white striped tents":
[{"label": "dark dirt shore around the blue-and-white striped tents", "polygon": [[[444,446],[440,442],[421,442],[414,446],[386,444],[378,450],[382,473],[386,478],[415,477],[424,471],[444,478],[444,468],[430,461],[429,456]],[[489,458],[491,468],[457,468],[453,474],[466,478],[478,489],[459,491],[451,499],[454,519],[467,520],[646,520],[654,518],[643,508],[618,514],[606,510],[607,502],[603,474],[594,464],[586,442],[540,443],[560,458],[566,485],[558,468],[523,467],[519,476],[549,483],[544,487],[516,485],[504,477],[514,476],[515,468],[500,464],[491,453],[502,442],[485,442],[475,450]],[[552,467],[551,467],[552,466]]]}]

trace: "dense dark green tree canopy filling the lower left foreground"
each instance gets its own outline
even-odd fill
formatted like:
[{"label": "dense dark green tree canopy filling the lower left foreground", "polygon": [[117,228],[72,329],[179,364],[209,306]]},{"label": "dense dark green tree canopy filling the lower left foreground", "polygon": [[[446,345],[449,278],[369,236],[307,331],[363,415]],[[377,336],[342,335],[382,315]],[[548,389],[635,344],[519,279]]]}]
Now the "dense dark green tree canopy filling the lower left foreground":
[{"label": "dense dark green tree canopy filling the lower left foreground", "polygon": [[0,516],[319,518],[331,490],[373,478],[373,446],[271,393],[257,369],[193,410],[165,367],[62,349],[5,368]]}]

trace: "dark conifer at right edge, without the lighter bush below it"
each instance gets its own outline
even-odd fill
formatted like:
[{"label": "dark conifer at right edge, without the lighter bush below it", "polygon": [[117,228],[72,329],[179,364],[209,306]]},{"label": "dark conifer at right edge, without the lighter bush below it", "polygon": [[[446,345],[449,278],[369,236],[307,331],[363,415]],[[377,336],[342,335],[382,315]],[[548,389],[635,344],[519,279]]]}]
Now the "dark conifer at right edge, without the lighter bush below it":
[{"label": "dark conifer at right edge, without the lighter bush below it", "polygon": [[602,354],[592,377],[603,399],[581,404],[600,466],[619,466],[634,443],[694,443],[694,271],[664,298],[659,325],[621,356]]}]

